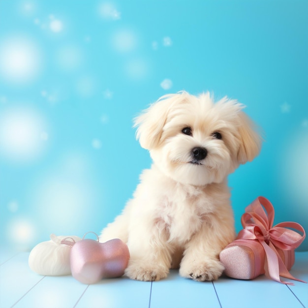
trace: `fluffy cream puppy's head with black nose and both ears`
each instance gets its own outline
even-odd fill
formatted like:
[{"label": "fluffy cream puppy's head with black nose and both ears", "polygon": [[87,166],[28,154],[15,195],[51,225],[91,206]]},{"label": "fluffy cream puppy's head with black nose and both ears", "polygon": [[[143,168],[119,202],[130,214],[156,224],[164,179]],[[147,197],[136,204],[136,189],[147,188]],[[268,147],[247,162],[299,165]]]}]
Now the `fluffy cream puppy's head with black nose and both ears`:
[{"label": "fluffy cream puppy's head with black nose and both ears", "polygon": [[161,97],[135,119],[137,138],[157,167],[177,182],[222,182],[261,148],[243,105],[227,97],[214,103],[210,93]]}]

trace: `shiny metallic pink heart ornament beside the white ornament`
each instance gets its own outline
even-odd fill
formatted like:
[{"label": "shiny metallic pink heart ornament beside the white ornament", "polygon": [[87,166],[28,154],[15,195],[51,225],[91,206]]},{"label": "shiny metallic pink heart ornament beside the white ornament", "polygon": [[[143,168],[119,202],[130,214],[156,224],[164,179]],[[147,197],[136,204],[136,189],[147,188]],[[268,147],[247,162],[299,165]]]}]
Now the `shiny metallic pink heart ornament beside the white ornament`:
[{"label": "shiny metallic pink heart ornament beside the white ornament", "polygon": [[121,277],[129,257],[128,247],[120,239],[105,243],[84,239],[71,248],[72,276],[85,284],[98,282],[102,278]]}]

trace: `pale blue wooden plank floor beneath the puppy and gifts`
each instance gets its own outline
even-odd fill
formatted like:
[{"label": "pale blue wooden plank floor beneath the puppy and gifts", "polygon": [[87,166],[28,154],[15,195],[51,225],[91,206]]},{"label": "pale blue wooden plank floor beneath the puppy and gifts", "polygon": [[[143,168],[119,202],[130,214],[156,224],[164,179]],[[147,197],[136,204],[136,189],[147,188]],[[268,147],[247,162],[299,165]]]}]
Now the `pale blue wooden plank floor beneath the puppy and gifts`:
[{"label": "pale blue wooden plank floor beneath the puppy and gifts", "polygon": [[[29,253],[0,251],[0,308],[308,308],[308,284],[294,286],[266,277],[196,282],[172,270],[161,281],[105,279],[85,285],[71,276],[39,276]],[[293,276],[308,281],[308,252],[297,252]]]}]

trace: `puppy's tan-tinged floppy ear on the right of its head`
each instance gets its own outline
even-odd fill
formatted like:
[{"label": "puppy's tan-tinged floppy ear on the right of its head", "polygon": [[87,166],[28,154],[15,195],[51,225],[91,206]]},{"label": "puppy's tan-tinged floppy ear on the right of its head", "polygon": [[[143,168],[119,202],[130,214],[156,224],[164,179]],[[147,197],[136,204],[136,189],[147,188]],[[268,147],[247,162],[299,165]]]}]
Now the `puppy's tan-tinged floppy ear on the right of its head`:
[{"label": "puppy's tan-tinged floppy ear on the right of its head", "polygon": [[262,138],[257,132],[256,125],[242,111],[239,113],[239,120],[240,148],[238,162],[245,164],[260,153]]}]

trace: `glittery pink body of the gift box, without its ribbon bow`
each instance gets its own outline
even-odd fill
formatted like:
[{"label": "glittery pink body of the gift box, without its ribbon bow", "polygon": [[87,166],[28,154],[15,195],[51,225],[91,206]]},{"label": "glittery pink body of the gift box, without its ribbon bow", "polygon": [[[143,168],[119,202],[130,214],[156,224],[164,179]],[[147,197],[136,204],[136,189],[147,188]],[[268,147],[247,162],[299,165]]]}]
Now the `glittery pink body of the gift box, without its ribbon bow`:
[{"label": "glittery pink body of the gift box, without its ribbon bow", "polygon": [[[277,248],[287,270],[294,264],[294,249],[282,250]],[[235,240],[226,246],[219,254],[220,262],[225,267],[225,275],[237,279],[253,279],[265,274],[267,261],[263,246],[257,240],[249,243]]]}]

